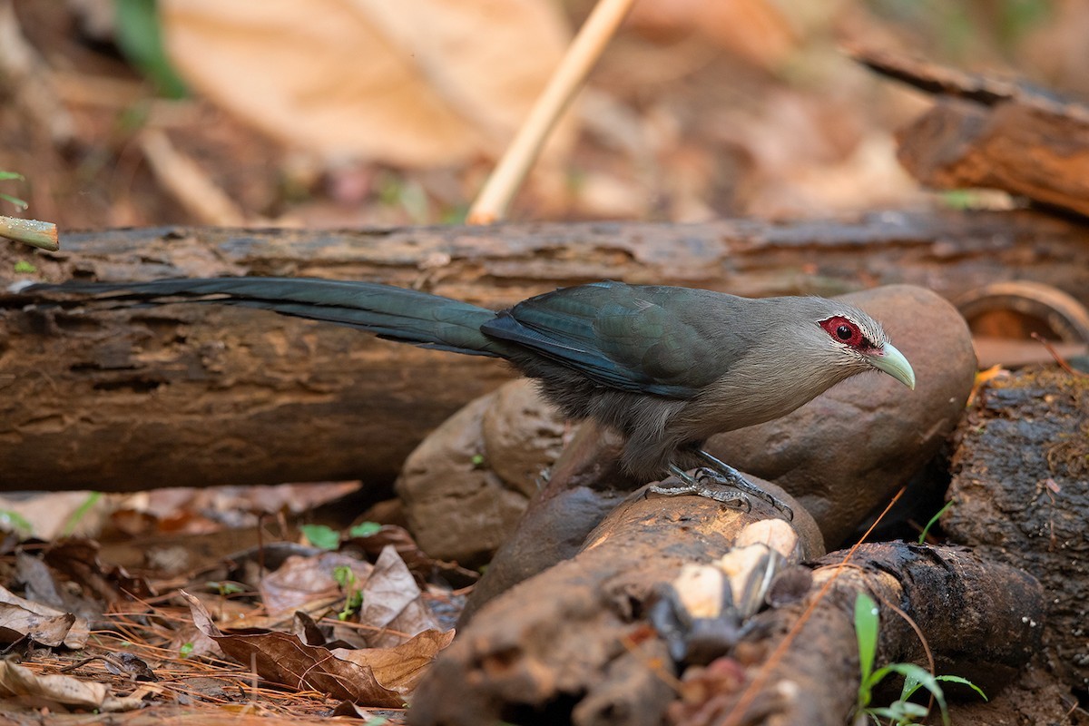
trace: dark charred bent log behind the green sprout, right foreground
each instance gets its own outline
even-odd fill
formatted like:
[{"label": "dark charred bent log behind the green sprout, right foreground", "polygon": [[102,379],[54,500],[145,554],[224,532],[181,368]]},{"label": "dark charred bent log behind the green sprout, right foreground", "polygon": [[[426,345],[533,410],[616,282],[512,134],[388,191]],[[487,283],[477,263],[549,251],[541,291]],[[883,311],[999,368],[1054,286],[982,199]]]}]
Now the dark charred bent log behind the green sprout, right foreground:
[{"label": "dark charred bent log behind the green sprout, right foreground", "polygon": [[[846,723],[860,680],[854,626],[859,592],[867,592],[880,607],[874,668],[889,663],[927,667],[926,641],[935,675],[965,677],[993,694],[1039,650],[1043,590],[1019,569],[962,547],[904,542],[862,544],[841,569],[845,554],[833,552],[816,563],[806,596],[752,618],[735,651],[738,679],[723,681],[710,667],[686,674],[683,690],[702,699],[675,703],[672,723]],[[832,578],[803,620],[802,614]],[[793,640],[780,649],[785,638]],[[771,659],[776,650],[782,657]],[[754,692],[746,693],[749,687]],[[957,688],[946,684],[944,690]]]}]

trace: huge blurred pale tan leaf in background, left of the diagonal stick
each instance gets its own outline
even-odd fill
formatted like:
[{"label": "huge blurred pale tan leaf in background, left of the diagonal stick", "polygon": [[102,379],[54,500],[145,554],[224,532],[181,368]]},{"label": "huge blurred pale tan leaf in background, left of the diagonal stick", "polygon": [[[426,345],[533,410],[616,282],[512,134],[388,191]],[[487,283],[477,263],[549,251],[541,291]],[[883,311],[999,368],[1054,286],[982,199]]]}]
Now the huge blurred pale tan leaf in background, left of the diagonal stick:
[{"label": "huge blurred pale tan leaf in background, left of the diagonal stick", "polygon": [[568,35],[549,0],[274,0],[259,13],[166,0],[160,13],[194,89],[291,146],[407,167],[495,156]]}]

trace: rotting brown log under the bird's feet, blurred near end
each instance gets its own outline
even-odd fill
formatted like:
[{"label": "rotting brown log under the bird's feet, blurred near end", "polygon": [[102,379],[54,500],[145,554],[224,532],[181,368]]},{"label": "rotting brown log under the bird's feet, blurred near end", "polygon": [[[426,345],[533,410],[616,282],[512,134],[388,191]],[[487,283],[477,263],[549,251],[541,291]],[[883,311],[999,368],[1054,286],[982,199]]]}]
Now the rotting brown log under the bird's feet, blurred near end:
[{"label": "rotting brown log under the bird's feet, blurred near end", "polygon": [[[793,503],[782,490],[758,483]],[[631,664],[624,664],[628,657],[641,656],[644,669],[658,662],[668,675],[661,649],[639,645],[649,635],[641,620],[644,603],[685,563],[725,554],[744,527],[758,519],[706,497],[633,494],[586,539],[576,557],[481,608],[432,665],[414,697],[409,723],[566,723],[576,701],[597,704],[594,712],[579,709],[575,723],[580,725],[607,723],[601,714],[613,714],[615,724],[660,723],[671,689],[635,688],[646,678],[628,681],[628,688],[614,680],[632,677]],[[819,554],[819,534],[798,550],[798,557]],[[660,677],[650,674],[653,681]],[[561,712],[551,712],[556,705]]]}]

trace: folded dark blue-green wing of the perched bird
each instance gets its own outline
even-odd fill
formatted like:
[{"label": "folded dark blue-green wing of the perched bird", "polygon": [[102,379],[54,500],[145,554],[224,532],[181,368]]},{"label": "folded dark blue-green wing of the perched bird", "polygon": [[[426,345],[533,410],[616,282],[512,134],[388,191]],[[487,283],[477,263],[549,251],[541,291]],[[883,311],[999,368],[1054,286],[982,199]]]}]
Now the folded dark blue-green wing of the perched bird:
[{"label": "folded dark blue-green wing of the perched bird", "polygon": [[[613,389],[690,398],[724,372],[707,303],[727,296],[604,282],[529,298],[481,327]],[[721,328],[721,325],[719,327]]]}]

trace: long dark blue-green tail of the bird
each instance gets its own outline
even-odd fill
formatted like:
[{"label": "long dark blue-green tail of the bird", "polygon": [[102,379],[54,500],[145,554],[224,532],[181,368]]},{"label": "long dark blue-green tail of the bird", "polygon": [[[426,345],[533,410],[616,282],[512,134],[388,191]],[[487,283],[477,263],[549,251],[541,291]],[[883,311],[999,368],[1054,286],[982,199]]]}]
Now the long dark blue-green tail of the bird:
[{"label": "long dark blue-green tail of the bird", "polygon": [[273,310],[358,328],[393,341],[469,355],[502,356],[503,344],[480,325],[492,310],[416,290],[314,278],[207,278],[137,283],[65,282],[19,291],[93,296],[113,306],[192,302]]}]

